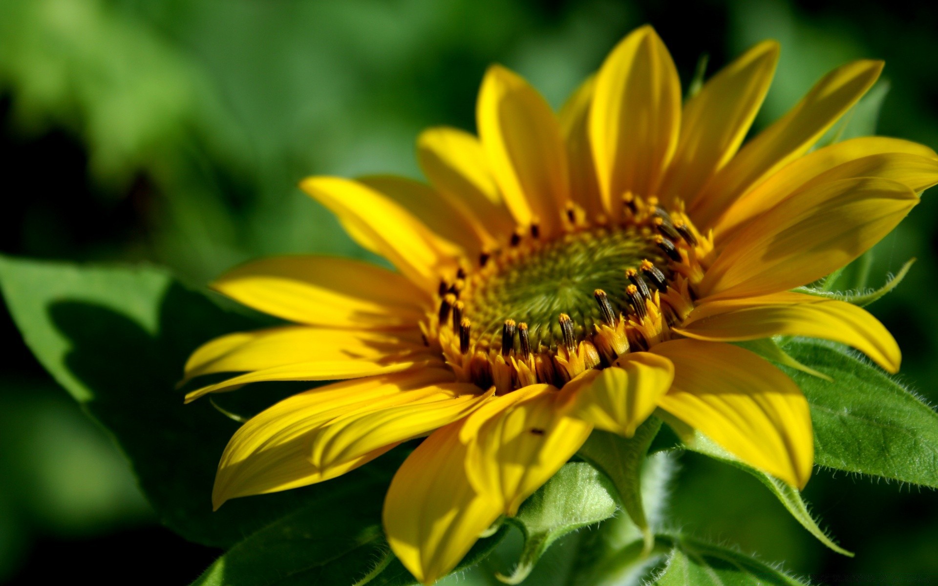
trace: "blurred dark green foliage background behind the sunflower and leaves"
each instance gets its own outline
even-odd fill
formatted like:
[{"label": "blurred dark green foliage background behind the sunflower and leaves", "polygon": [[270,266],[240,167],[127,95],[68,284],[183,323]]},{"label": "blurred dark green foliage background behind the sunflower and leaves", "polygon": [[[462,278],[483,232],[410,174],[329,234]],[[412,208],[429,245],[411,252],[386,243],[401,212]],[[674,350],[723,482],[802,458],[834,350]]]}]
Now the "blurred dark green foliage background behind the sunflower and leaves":
[{"label": "blurred dark green foliage background behind the sunflower and leaves", "polygon": [[[362,255],[299,178],[417,176],[416,134],[474,129],[490,63],[559,106],[642,23],[684,83],[702,53],[712,73],[778,39],[757,126],[826,70],[884,58],[876,133],[938,147],[938,6],[918,2],[0,0],[0,252],[161,263],[193,284],[259,255]],[[918,258],[872,309],[900,341],[902,380],[932,404],[934,195],[876,248],[871,283]],[[219,552],[155,524],[106,432],[38,366],[5,308],[0,336],[0,583],[123,583],[115,563],[159,583],[195,578]],[[682,458],[674,522],[819,582],[938,583],[932,491],[820,471],[806,496],[855,559],[753,478],[696,456]]]}]

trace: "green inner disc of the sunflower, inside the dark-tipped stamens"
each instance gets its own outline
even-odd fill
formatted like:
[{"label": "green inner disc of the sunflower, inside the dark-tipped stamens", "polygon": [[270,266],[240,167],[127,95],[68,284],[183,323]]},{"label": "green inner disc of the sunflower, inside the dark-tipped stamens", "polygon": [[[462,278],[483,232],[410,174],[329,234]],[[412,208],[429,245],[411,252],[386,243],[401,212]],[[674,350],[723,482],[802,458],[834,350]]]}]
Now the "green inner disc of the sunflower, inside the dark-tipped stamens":
[{"label": "green inner disc of the sunflower, inside the dark-tipped stamens", "polygon": [[582,339],[600,321],[597,289],[608,294],[616,313],[626,312],[626,270],[643,259],[666,264],[651,235],[639,227],[568,233],[496,263],[461,296],[474,338],[497,348],[503,324],[514,320],[527,323],[532,348],[552,348],[563,338],[558,317],[566,313]]}]

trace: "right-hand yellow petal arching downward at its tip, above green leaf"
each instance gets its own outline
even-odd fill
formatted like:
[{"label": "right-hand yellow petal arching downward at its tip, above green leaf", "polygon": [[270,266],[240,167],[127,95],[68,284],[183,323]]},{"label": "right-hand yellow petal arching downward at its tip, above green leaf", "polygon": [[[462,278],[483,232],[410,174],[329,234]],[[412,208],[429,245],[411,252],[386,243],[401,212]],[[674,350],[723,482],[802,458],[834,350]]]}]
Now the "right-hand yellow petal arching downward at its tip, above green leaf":
[{"label": "right-hand yellow petal arching downward at its tip, above green leaf", "polygon": [[[675,332],[688,338],[735,342],[772,336],[806,336],[834,340],[870,356],[889,372],[898,372],[899,345],[870,312],[853,304],[802,293],[776,293],[745,298],[743,304],[716,301],[690,312]],[[736,307],[734,307],[736,305]],[[698,309],[702,309],[698,313]]]}]

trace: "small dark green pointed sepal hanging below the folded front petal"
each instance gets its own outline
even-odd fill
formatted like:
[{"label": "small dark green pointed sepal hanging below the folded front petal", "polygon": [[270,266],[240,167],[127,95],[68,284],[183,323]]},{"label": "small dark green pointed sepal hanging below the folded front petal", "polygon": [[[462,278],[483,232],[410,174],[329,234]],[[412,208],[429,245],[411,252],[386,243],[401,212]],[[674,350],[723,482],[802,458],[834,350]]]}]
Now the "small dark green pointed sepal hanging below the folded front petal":
[{"label": "small dark green pointed sepal hanging below the folded front petal", "polygon": [[654,534],[644,513],[641,472],[648,447],[658,435],[659,428],[661,420],[649,417],[628,439],[597,429],[582,444],[579,452],[581,458],[613,481],[619,502],[644,534],[646,549],[651,549],[654,544]]}]

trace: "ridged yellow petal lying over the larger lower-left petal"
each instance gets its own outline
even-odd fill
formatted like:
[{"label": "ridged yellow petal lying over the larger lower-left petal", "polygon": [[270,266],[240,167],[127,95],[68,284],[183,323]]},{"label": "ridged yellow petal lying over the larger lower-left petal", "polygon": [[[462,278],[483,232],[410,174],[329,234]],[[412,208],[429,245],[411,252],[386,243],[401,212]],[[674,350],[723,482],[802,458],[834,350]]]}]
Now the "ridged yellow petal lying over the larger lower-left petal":
[{"label": "ridged yellow petal lying over the larger lower-left petal", "polygon": [[310,434],[310,462],[326,473],[382,446],[426,435],[472,413],[494,390],[483,393],[472,383],[442,383],[421,389],[420,397],[402,405],[345,413]]}]

